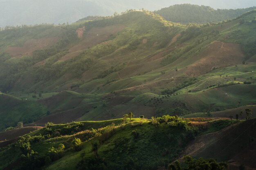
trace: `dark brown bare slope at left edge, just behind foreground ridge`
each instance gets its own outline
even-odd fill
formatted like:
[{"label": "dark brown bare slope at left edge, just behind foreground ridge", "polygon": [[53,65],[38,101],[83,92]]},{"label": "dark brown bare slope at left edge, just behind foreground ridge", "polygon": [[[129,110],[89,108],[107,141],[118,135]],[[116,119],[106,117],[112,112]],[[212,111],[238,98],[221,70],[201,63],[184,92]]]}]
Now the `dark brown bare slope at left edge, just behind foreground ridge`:
[{"label": "dark brown bare slope at left edge, just behind foreground ridge", "polygon": [[16,139],[19,136],[25,135],[27,133],[36,131],[41,128],[42,128],[41,126],[32,126],[32,127],[24,127],[24,128],[5,131],[0,133],[0,141],[4,141],[5,139],[6,140]]}]

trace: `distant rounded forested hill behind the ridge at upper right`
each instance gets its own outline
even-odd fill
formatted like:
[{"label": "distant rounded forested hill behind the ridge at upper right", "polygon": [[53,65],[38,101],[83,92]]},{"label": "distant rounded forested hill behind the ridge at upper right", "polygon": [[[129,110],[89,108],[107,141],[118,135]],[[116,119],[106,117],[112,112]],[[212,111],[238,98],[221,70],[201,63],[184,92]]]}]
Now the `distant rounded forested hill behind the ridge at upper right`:
[{"label": "distant rounded forested hill behind the ridge at upper right", "polygon": [[173,5],[163,8],[155,13],[161,15],[168,21],[181,23],[207,23],[220,22],[223,20],[234,19],[243,13],[252,11],[256,7],[245,9],[213,9],[207,6],[198,6],[191,4]]}]

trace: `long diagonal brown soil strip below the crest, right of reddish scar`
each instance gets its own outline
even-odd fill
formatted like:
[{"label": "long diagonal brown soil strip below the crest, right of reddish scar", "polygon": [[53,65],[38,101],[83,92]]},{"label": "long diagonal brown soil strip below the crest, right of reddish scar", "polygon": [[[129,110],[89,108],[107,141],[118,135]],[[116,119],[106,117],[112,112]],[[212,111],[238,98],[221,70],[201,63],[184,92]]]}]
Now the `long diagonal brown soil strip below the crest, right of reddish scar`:
[{"label": "long diagonal brown soil strip below the crest, right of reddish scar", "polygon": [[123,25],[92,28],[90,31],[83,33],[85,34],[83,36],[83,41],[70,48],[69,53],[63,56],[60,60],[65,61],[78,56],[81,50],[87,50],[92,46],[100,44],[103,41],[106,41],[107,39],[109,39],[111,34],[117,33],[118,31],[121,31],[123,28],[125,28],[125,26]]}]

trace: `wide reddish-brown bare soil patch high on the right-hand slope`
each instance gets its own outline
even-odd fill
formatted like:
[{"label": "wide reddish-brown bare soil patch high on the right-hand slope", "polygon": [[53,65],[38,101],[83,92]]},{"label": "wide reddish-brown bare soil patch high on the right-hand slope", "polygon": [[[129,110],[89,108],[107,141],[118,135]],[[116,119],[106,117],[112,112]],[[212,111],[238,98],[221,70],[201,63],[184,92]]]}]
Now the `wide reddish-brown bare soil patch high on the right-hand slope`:
[{"label": "wide reddish-brown bare soil patch high on the right-hand slope", "polygon": [[188,76],[199,76],[210,72],[213,68],[223,68],[242,63],[245,56],[239,44],[215,41],[195,56],[201,58],[185,69]]}]

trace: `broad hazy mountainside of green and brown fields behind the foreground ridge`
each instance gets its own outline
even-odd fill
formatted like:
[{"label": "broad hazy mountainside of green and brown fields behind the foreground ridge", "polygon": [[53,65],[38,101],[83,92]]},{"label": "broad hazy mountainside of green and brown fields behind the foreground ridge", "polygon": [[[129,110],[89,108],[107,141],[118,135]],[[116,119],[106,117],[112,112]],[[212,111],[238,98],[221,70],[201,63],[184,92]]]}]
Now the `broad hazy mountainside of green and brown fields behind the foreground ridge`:
[{"label": "broad hazy mountainside of green and brown fields behind the foreground ridge", "polygon": [[0,129],[255,105],[255,16],[198,27],[130,10],[0,31]]}]

